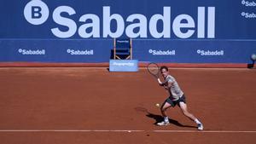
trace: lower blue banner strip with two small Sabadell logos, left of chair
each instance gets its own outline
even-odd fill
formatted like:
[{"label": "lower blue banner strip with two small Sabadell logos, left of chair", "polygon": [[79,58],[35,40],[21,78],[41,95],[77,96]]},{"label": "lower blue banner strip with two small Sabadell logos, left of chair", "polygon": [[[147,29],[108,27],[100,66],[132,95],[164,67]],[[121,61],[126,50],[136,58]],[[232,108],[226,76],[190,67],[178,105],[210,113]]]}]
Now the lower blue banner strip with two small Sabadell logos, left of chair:
[{"label": "lower blue banner strip with two small Sabadell logos, left of chair", "polygon": [[5,39],[0,41],[0,61],[106,62],[112,40]]}]

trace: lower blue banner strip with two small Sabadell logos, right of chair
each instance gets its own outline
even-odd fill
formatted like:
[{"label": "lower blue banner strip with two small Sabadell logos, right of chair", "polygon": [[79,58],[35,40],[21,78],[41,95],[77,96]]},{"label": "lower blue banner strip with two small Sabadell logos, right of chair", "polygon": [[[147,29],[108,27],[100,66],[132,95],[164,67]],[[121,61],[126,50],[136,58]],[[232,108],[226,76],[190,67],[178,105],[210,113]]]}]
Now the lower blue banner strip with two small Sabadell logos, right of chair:
[{"label": "lower blue banner strip with two small Sabadell logos, right of chair", "polygon": [[138,40],[134,47],[139,61],[168,63],[247,63],[256,53],[256,41],[243,40]]}]

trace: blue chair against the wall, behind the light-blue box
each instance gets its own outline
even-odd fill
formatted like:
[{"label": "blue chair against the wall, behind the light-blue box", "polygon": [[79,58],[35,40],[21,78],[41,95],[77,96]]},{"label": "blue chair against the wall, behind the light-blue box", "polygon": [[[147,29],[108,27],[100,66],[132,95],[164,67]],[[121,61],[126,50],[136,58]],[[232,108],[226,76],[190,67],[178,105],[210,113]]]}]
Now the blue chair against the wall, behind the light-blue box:
[{"label": "blue chair against the wall, behind the light-blue box", "polygon": [[132,42],[130,37],[113,39],[113,59],[132,60]]}]

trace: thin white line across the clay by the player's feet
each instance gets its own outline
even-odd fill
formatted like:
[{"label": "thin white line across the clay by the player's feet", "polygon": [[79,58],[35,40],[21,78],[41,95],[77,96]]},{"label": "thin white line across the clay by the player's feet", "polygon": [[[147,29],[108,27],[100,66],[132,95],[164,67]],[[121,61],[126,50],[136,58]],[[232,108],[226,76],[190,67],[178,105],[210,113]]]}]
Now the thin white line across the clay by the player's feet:
[{"label": "thin white line across the clay by the player's feet", "polygon": [[256,133],[256,130],[0,130],[0,132]]}]

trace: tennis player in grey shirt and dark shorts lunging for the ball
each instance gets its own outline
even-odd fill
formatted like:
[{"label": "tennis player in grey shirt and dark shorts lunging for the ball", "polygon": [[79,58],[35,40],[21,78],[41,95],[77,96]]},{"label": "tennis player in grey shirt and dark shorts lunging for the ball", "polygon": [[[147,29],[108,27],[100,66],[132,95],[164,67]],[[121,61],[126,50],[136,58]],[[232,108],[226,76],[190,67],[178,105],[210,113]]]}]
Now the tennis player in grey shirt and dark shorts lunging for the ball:
[{"label": "tennis player in grey shirt and dark shorts lunging for the ball", "polygon": [[164,101],[162,106],[160,107],[160,111],[162,113],[162,116],[164,117],[164,121],[157,123],[158,125],[169,125],[169,118],[166,115],[166,110],[170,107],[175,107],[176,105],[180,107],[181,111],[183,112],[183,115],[188,117],[189,119],[193,120],[197,124],[198,130],[203,130],[203,124],[195,118],[195,116],[188,111],[188,107],[185,101],[185,95],[180,89],[180,87],[177,84],[177,81],[175,78],[173,78],[169,72],[167,66],[161,66],[160,72],[162,77],[165,79],[165,82],[160,82],[160,86],[164,87],[166,90],[168,90],[170,96]]}]

